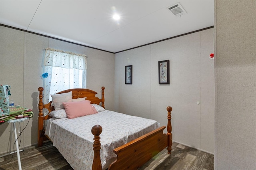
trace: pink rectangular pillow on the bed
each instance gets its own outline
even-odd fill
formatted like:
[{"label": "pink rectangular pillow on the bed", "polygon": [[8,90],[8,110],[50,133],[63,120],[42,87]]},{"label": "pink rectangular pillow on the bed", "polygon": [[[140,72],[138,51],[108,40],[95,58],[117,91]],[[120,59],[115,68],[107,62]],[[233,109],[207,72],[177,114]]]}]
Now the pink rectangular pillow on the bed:
[{"label": "pink rectangular pillow on the bed", "polygon": [[78,102],[63,102],[63,106],[68,119],[74,119],[76,117],[98,113],[96,109],[91,105],[91,101],[89,100]]}]

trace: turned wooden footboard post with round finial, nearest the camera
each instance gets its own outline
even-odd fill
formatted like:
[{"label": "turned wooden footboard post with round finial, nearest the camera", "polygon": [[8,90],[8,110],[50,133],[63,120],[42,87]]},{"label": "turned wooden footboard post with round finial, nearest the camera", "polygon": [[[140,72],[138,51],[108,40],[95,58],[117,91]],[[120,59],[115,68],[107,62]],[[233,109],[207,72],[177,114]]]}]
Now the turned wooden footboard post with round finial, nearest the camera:
[{"label": "turned wooden footboard post with round finial, nearest the camera", "polygon": [[100,125],[94,125],[92,127],[92,134],[94,135],[93,150],[94,158],[92,163],[92,170],[101,170],[100,161],[100,134],[102,132],[102,127]]}]

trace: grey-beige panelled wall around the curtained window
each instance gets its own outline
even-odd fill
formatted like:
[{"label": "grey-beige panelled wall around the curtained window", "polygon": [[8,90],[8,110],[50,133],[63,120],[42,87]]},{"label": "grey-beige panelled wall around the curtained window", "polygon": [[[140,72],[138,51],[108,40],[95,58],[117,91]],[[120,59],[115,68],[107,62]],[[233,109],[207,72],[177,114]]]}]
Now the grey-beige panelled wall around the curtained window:
[{"label": "grey-beige panelled wall around the curtained window", "polygon": [[[87,88],[98,92],[97,97],[101,98],[101,87],[105,86],[106,109],[114,110],[113,53],[0,26],[0,83],[11,85],[10,99],[14,99],[14,104],[31,108],[34,112],[22,133],[21,147],[37,143],[38,87],[43,85],[43,49],[47,47],[86,54]],[[21,129],[27,122],[22,123]],[[4,123],[0,126],[0,153],[4,153],[8,150],[10,125]]]}]

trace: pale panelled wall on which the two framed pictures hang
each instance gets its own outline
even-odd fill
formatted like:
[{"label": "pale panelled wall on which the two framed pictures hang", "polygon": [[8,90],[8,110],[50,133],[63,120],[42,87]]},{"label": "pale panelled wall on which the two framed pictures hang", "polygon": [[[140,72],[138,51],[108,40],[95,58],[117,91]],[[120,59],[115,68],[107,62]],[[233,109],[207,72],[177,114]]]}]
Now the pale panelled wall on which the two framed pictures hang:
[{"label": "pale panelled wall on which the two framed pictures hang", "polygon": [[[167,123],[177,142],[214,152],[213,28],[115,55],[115,110]],[[170,60],[170,85],[158,84],[158,61]],[[132,65],[132,85],[125,66]],[[200,105],[196,102],[199,101]]]}]

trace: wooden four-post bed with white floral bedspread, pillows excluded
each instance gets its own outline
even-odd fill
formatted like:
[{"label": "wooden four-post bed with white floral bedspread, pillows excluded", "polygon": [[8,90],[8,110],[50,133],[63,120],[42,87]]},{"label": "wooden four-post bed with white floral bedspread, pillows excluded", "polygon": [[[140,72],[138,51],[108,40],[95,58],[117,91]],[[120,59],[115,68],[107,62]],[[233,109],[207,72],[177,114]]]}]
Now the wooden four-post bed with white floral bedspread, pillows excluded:
[{"label": "wooden four-post bed with white floral bedspread, pillows excluded", "polygon": [[[105,110],[105,88],[101,89],[102,99],[89,89],[56,93],[72,93],[72,100],[86,97],[98,109],[92,115],[58,119],[51,116],[55,112],[52,101],[43,103],[44,89],[39,87],[38,146],[50,139],[74,169],[138,169],[166,147],[171,154],[171,107],[167,107],[167,134],[164,134],[166,127],[159,127],[156,121]],[[48,110],[46,115],[44,110]]]}]

